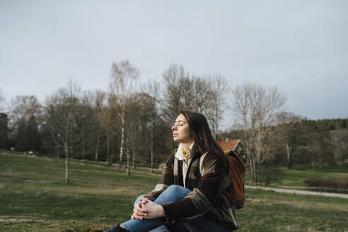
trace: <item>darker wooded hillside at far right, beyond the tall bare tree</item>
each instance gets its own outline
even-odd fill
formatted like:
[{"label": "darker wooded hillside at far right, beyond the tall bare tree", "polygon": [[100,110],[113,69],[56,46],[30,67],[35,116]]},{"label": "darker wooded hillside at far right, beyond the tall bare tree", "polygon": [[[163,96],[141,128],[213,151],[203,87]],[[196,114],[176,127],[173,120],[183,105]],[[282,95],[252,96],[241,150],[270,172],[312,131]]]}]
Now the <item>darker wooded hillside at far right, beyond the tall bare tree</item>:
[{"label": "darker wooded hillside at far right, beyond the tall bare tree", "polygon": [[[308,120],[282,112],[271,126],[264,151],[271,151],[265,162],[292,168],[300,164],[321,170],[327,165],[348,165],[348,118]],[[243,129],[232,129],[221,137],[239,139]]]}]

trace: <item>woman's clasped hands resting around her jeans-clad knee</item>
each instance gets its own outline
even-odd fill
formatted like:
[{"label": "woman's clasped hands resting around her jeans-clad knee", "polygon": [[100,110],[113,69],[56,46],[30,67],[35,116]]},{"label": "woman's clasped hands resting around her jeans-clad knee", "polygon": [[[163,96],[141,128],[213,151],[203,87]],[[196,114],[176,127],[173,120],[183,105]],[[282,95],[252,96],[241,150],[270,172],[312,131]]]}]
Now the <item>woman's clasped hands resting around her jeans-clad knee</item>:
[{"label": "woman's clasped hands resting around her jeans-clad knee", "polygon": [[161,204],[156,204],[144,197],[141,197],[140,199],[140,202],[134,204],[131,219],[156,219],[161,216],[166,216]]}]

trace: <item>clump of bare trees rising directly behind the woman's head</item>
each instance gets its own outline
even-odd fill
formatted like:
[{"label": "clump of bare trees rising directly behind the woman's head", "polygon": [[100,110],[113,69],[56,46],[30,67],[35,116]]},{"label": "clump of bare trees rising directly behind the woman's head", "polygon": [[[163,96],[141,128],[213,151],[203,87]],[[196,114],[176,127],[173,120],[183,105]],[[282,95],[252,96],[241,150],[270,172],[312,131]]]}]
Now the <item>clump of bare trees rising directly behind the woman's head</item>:
[{"label": "clump of bare trees rising directly behind the woman's head", "polygon": [[197,76],[183,66],[170,64],[163,72],[164,91],[161,98],[161,115],[168,124],[173,123],[180,110],[193,110],[207,115],[216,138],[226,108],[228,82],[219,74]]}]

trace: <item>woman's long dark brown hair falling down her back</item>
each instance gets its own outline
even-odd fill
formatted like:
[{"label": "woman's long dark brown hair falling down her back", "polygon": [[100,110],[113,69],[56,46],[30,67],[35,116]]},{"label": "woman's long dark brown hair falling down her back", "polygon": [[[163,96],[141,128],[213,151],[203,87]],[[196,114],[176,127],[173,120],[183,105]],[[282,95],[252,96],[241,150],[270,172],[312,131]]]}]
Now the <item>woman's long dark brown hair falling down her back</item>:
[{"label": "woman's long dark brown hair falling down her back", "polygon": [[217,161],[224,168],[224,172],[229,171],[228,158],[219,144],[216,143],[207,118],[199,112],[191,110],[180,110],[180,113],[186,117],[188,124],[190,125],[190,132],[192,134],[195,145],[201,153],[208,151],[208,156],[214,156]]}]

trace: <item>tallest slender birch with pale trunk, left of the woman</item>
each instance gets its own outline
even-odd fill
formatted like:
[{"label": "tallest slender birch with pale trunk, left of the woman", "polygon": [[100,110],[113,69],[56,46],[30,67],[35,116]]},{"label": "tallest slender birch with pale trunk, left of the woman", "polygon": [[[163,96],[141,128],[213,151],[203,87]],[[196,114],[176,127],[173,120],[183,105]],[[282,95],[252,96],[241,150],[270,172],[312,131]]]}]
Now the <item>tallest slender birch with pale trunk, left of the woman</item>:
[{"label": "tallest slender birch with pale trunk, left of the woman", "polygon": [[134,92],[135,81],[139,76],[139,71],[128,60],[118,63],[112,63],[110,92],[116,96],[117,105],[120,106],[118,116],[121,120],[121,146],[120,161],[123,156],[124,144],[124,127],[125,127],[125,102],[126,99]]}]

